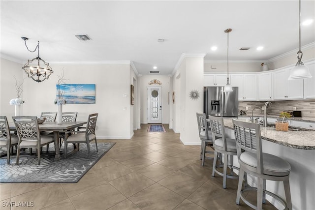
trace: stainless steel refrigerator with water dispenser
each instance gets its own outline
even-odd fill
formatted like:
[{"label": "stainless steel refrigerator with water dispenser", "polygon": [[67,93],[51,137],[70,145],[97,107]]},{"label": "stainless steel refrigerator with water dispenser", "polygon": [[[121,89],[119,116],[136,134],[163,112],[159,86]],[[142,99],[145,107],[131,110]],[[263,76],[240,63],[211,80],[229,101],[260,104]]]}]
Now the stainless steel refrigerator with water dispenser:
[{"label": "stainless steel refrigerator with water dispenser", "polygon": [[223,88],[223,86],[204,87],[204,113],[206,116],[238,116],[238,87],[232,87],[232,92],[224,92]]}]

